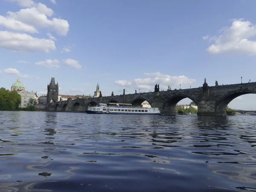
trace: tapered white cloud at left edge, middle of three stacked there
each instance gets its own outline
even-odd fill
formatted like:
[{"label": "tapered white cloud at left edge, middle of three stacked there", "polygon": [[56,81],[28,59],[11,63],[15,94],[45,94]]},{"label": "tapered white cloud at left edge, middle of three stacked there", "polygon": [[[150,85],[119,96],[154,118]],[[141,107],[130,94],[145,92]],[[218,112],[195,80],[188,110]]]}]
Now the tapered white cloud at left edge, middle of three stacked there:
[{"label": "tapered white cloud at left edge, middle of three stacked there", "polygon": [[35,27],[22,23],[18,20],[15,20],[12,17],[3,17],[2,15],[0,15],[0,25],[4,26],[7,29],[12,29],[15,31],[38,33],[38,30],[35,29]]}]

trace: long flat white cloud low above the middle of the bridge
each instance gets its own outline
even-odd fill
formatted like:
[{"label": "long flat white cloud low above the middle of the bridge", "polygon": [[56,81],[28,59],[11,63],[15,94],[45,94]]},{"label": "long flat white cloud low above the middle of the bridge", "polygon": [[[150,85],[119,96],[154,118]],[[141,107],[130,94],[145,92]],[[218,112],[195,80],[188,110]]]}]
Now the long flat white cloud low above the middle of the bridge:
[{"label": "long flat white cloud low above the middle of the bridge", "polygon": [[[118,80],[114,81],[115,84],[123,88],[134,88],[148,91],[154,91],[154,85],[160,84],[160,90],[166,90],[168,85],[179,86],[180,84],[191,84],[195,82],[195,79],[188,79],[186,76],[169,76],[157,73],[144,73],[144,79],[133,79],[133,80]],[[177,87],[176,87],[177,88]],[[174,89],[174,87],[172,87]]]}]

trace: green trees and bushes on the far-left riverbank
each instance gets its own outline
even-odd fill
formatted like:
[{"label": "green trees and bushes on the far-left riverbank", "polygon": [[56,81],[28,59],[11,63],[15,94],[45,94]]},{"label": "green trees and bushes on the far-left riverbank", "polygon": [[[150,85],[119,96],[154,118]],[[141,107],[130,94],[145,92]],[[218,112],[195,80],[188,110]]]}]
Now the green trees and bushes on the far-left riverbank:
[{"label": "green trees and bushes on the far-left riverbank", "polygon": [[20,95],[16,90],[6,90],[5,88],[0,88],[0,111],[35,111],[35,99],[29,99],[28,106],[26,108],[19,108],[21,102]]}]

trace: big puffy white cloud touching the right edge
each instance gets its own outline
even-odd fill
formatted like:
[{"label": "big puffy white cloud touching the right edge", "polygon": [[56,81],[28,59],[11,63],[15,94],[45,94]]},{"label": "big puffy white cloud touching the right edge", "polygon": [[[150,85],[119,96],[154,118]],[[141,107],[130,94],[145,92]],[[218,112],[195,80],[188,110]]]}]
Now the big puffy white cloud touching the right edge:
[{"label": "big puffy white cloud touching the right edge", "polygon": [[250,41],[250,38],[256,36],[256,25],[250,21],[233,20],[232,26],[220,30],[221,35],[212,37],[215,41],[207,48],[212,54],[225,52],[256,54],[256,41]]}]

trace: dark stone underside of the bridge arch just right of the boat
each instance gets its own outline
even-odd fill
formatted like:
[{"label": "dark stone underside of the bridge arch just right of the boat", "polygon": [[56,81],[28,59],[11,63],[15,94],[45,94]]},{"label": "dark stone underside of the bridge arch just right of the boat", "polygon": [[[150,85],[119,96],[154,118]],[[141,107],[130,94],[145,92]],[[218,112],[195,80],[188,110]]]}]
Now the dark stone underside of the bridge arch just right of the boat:
[{"label": "dark stone underside of the bridge arch just right of the boat", "polygon": [[180,102],[182,99],[186,99],[189,98],[192,100],[192,102],[195,103],[195,105],[198,106],[198,101],[197,99],[195,99],[192,96],[186,95],[186,94],[178,94],[178,95],[174,95],[169,97],[166,102],[164,102],[163,104],[163,110],[162,110],[162,114],[164,115],[176,115],[176,105],[178,102]]}]

